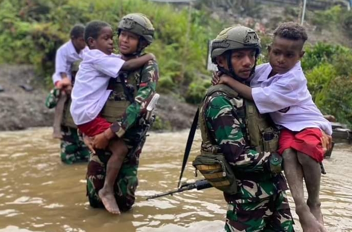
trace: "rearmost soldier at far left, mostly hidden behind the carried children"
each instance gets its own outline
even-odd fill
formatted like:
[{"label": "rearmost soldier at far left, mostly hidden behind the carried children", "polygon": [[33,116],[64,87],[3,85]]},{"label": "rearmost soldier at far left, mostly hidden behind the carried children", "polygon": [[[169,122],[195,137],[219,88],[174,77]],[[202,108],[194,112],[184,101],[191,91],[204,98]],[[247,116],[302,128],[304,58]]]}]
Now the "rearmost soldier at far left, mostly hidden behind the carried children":
[{"label": "rearmost soldier at far left, mostly hidden behind the carried children", "polygon": [[[79,66],[80,60],[76,61],[72,64],[72,78],[74,80],[74,77],[78,71],[78,66]],[[53,88],[50,91],[50,94],[48,97],[46,97],[45,100],[45,106],[48,108],[54,108],[59,100],[59,95],[60,95],[60,89],[59,88]],[[69,98],[65,102],[65,111],[69,112],[69,104],[71,101]],[[65,115],[66,117],[69,117],[69,115]],[[89,149],[87,146],[83,143],[83,138],[82,135],[79,135],[77,133],[77,127],[73,123],[67,124],[65,123],[65,120],[61,122],[61,143],[60,143],[60,157],[61,161],[65,164],[74,164],[77,162],[81,161],[88,161],[89,159]]]}]

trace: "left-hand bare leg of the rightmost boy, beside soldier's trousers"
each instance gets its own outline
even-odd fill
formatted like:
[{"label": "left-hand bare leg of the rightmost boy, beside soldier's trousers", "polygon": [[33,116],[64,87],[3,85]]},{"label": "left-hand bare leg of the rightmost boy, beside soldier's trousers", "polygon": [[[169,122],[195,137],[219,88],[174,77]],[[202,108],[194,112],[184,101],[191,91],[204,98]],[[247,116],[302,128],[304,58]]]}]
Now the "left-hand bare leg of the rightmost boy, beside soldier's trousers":
[{"label": "left-hand bare leg of the rightmost boy, beside soldier's trousers", "polygon": [[303,232],[325,232],[326,230],[315,219],[304,200],[303,170],[299,163],[296,151],[293,149],[286,149],[283,153],[283,159],[285,176],[290,187],[292,198],[295,202],[296,213]]}]

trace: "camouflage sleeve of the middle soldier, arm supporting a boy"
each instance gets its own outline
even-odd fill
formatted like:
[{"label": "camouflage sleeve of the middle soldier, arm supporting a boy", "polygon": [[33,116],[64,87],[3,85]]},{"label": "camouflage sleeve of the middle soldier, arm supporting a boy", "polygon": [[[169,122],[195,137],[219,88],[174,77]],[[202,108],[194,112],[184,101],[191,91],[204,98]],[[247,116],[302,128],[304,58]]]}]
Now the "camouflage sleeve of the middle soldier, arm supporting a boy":
[{"label": "camouflage sleeve of the middle soldier, arm supporting a boy", "polygon": [[158,65],[154,60],[150,60],[142,70],[139,89],[134,98],[134,103],[129,105],[123,115],[121,122],[115,122],[110,127],[118,136],[122,137],[128,128],[135,125],[140,115],[146,113],[146,108],[152,99],[156,83],[159,79]]}]

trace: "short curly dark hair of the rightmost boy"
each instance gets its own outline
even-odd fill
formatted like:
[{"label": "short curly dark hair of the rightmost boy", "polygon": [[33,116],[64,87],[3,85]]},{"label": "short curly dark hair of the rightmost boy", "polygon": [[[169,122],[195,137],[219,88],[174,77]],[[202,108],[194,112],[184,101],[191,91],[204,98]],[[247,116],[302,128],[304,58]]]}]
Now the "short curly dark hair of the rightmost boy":
[{"label": "short curly dark hair of the rightmost boy", "polygon": [[274,30],[274,37],[306,42],[308,35],[306,29],[296,22],[283,22]]}]

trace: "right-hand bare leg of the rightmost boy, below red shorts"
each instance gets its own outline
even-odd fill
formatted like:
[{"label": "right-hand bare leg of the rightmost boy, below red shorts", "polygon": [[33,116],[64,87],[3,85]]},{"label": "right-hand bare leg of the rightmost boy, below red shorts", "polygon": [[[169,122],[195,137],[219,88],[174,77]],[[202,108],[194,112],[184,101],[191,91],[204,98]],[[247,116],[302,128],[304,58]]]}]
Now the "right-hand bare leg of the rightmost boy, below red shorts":
[{"label": "right-hand bare leg of the rightmost boy, below red shorts", "polygon": [[308,177],[308,178],[304,178],[304,181],[306,181],[306,187],[308,192],[307,204],[312,214],[314,215],[314,217],[321,224],[323,224],[323,215],[321,213],[320,199],[319,199],[320,177],[321,177],[320,165],[317,161],[312,159],[307,154],[297,152],[297,157],[298,157],[299,163],[302,165],[304,176]]}]

